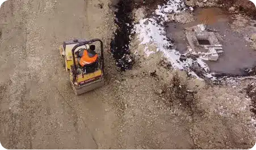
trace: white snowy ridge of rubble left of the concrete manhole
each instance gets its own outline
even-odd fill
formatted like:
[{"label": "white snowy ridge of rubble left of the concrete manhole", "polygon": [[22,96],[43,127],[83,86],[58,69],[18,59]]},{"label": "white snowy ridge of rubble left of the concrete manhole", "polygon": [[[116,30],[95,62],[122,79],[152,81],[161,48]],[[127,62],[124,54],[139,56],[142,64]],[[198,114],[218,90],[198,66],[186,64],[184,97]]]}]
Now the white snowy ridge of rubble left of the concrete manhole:
[{"label": "white snowy ridge of rubble left of the concrete manhole", "polygon": [[[203,59],[196,56],[184,56],[175,50],[172,41],[166,37],[165,23],[170,19],[171,14],[178,14],[186,11],[188,8],[181,0],[169,0],[166,5],[158,6],[153,16],[141,19],[134,25],[133,33],[135,33],[133,42],[134,54],[145,54],[146,59],[155,58],[150,55],[161,55],[168,61],[173,69],[186,70],[190,76],[194,76],[202,80],[210,78],[216,80],[210,73],[209,67],[204,63]],[[191,9],[190,9],[191,10]],[[140,48],[138,48],[140,47]],[[197,68],[197,69],[195,69]],[[200,68],[200,69],[199,69]]]}]

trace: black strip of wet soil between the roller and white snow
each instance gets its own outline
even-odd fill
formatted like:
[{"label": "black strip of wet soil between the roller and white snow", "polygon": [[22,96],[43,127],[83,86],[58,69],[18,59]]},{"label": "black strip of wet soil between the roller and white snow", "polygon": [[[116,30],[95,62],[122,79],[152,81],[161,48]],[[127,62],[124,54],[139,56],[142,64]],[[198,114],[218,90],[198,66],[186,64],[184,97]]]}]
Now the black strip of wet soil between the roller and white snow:
[{"label": "black strip of wet soil between the roller and white snow", "polygon": [[131,69],[134,62],[129,49],[133,29],[133,7],[131,1],[128,0],[119,1],[113,7],[116,16],[115,23],[118,28],[115,31],[114,39],[110,43],[111,52],[116,60],[117,67],[124,71]]}]

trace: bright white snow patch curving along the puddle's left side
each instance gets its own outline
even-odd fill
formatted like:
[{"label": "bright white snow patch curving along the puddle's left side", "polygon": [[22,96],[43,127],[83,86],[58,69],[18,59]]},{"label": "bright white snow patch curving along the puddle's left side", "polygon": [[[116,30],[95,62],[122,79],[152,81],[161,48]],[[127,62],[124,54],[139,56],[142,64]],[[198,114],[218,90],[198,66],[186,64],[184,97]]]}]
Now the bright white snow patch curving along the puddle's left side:
[{"label": "bright white snow patch curving along the puddle's left side", "polygon": [[[140,20],[139,24],[135,25],[134,31],[141,40],[141,45],[157,46],[157,50],[163,53],[167,60],[170,61],[173,68],[187,70],[189,74],[199,78],[198,75],[196,75],[196,73],[191,70],[193,64],[198,64],[200,67],[203,68],[202,70],[205,77],[216,80],[216,78],[213,77],[211,73],[209,73],[209,68],[202,59],[193,60],[191,58],[187,58],[184,61],[180,61],[179,59],[181,58],[181,53],[171,48],[171,43],[167,41],[163,22],[169,19],[169,14],[178,13],[184,10],[186,10],[184,2],[182,2],[181,0],[170,0],[169,2],[167,2],[166,5],[158,6],[158,9],[156,10],[156,14],[158,15],[158,17]],[[160,24],[158,24],[156,20],[160,20]],[[148,47],[145,46],[145,53],[149,56],[150,54],[153,54],[154,51],[148,50]]]}]

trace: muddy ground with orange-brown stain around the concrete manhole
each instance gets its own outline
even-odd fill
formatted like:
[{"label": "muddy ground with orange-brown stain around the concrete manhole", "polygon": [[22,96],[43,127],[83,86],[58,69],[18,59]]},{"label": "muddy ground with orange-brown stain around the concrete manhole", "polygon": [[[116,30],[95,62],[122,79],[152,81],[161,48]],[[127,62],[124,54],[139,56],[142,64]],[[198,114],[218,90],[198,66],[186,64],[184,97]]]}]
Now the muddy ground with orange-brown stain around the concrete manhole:
[{"label": "muddy ground with orange-brown stain around the concrete manhole", "polygon": [[256,65],[256,51],[246,41],[246,37],[256,33],[254,20],[218,7],[195,8],[190,15],[189,18],[183,18],[183,21],[188,20],[184,24],[170,22],[166,25],[167,36],[175,41],[178,51],[184,54],[189,46],[183,29],[205,23],[207,28],[215,32],[224,51],[219,60],[205,61],[212,72],[245,75],[247,68]]}]

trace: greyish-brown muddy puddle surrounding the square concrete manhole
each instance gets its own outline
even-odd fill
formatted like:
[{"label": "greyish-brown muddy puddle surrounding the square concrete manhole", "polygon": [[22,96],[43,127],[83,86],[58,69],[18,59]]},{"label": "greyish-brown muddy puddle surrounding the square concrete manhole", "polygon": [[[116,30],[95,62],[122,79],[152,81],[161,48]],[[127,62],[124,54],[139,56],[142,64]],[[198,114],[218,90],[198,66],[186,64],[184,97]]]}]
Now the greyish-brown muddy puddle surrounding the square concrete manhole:
[{"label": "greyish-brown muddy puddle surrounding the square concrete manhole", "polygon": [[194,15],[196,20],[190,24],[167,24],[167,36],[173,38],[177,50],[183,54],[188,46],[182,29],[204,22],[223,38],[219,42],[223,45],[224,54],[217,61],[205,61],[211,71],[218,74],[247,75],[245,69],[256,65],[256,51],[251,50],[250,43],[245,41],[246,33],[234,33],[228,25],[232,21],[230,15],[220,8],[198,8]]}]

